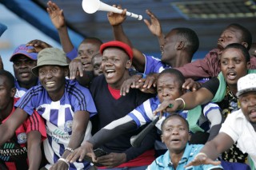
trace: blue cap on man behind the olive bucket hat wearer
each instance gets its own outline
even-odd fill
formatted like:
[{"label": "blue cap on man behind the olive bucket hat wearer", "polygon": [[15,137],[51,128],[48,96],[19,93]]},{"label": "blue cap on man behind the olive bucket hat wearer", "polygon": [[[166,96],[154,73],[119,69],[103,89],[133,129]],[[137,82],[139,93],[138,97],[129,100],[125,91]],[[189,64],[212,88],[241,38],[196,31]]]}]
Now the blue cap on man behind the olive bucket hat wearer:
[{"label": "blue cap on man behind the olive bucket hat wearer", "polygon": [[19,45],[15,50],[13,55],[10,57],[10,61],[14,61],[14,57],[18,56],[18,54],[25,55],[32,60],[38,60],[38,53],[28,53],[28,49],[34,49],[33,46],[26,46],[25,44]]}]

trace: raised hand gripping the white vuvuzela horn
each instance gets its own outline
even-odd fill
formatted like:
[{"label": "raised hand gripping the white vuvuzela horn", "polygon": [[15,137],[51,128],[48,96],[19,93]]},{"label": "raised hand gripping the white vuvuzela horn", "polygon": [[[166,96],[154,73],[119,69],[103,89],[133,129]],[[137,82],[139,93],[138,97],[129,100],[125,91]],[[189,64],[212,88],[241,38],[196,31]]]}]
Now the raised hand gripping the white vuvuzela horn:
[{"label": "raised hand gripping the white vuvuzela horn", "polygon": [[[113,5],[113,7],[116,7],[118,9],[122,9],[121,6]],[[107,18],[109,19],[109,22],[110,22],[111,26],[118,26],[126,20],[126,9],[122,11],[122,14],[109,12],[107,14]]]}]

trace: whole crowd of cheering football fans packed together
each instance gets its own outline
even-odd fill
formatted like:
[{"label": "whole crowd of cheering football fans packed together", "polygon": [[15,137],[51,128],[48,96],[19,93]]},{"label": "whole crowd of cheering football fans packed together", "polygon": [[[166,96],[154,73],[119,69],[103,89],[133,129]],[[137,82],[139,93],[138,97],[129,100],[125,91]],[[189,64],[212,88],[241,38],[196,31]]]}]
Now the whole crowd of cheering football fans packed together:
[{"label": "whole crowd of cheering football fans packed together", "polygon": [[10,56],[14,75],[0,63],[1,170],[255,169],[256,43],[244,26],[226,26],[217,48],[191,61],[194,30],[165,35],[146,10],[158,59],[126,36],[126,9],[107,14],[114,40],[76,49],[63,10],[47,6],[62,49],[34,39]]}]

